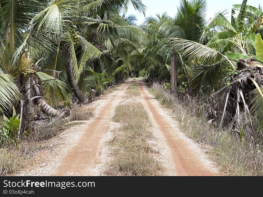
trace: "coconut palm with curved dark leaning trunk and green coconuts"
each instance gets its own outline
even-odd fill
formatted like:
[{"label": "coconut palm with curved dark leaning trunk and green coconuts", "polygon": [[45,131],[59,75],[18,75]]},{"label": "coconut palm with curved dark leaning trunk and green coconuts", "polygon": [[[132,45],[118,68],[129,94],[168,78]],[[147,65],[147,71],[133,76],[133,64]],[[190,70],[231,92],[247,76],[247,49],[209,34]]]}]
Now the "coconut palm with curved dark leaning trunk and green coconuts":
[{"label": "coconut palm with curved dark leaning trunk and green coconuts", "polygon": [[[63,23],[64,33],[59,38],[57,55],[50,59],[50,62],[55,63],[50,63],[48,68],[66,71],[67,80],[80,102],[88,98],[85,96],[88,88],[84,80],[89,74],[85,72],[88,62],[93,70],[95,61],[106,66],[105,56],[112,55],[112,50],[116,49],[121,41],[131,43],[133,39],[142,35],[140,29],[134,25],[116,24],[116,15],[118,16],[120,10],[126,10],[129,2],[136,5],[136,9],[145,11],[145,6],[137,0],[79,1],[74,9],[77,11],[70,13],[71,15],[67,16],[70,20]],[[61,16],[64,14],[61,13]],[[103,17],[105,14],[108,20]]]}]

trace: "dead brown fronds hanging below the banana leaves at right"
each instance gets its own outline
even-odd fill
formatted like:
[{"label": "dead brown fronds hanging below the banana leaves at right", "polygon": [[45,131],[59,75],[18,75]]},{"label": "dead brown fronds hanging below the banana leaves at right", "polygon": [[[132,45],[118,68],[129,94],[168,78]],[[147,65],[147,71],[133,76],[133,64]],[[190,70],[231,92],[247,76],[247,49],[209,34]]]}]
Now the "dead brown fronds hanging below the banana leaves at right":
[{"label": "dead brown fronds hanging below the banana leaves at right", "polygon": [[[239,130],[241,120],[242,122],[249,122],[250,111],[261,120],[262,114],[255,113],[259,111],[259,108],[255,108],[258,102],[253,98],[255,97],[254,90],[260,91],[260,87],[263,86],[263,65],[260,62],[256,62],[253,58],[250,60],[239,59],[237,65],[238,70],[225,79],[225,86],[211,95],[211,100],[214,101],[215,105],[222,103],[222,98],[225,98],[224,109],[219,109],[222,112],[219,129],[223,120],[227,119],[230,130]],[[257,98],[263,99],[263,97]],[[215,108],[218,109],[218,107],[217,105]],[[227,118],[226,114],[229,114]]]}]

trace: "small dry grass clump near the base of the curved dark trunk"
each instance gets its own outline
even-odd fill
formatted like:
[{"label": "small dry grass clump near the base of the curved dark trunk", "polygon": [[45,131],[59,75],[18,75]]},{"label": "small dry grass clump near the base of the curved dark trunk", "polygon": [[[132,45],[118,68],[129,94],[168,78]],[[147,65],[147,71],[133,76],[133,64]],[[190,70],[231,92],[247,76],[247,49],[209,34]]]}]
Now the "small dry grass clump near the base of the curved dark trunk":
[{"label": "small dry grass clump near the base of the curved dark trunk", "polygon": [[89,120],[94,117],[93,110],[88,106],[73,106],[70,110],[69,121]]}]

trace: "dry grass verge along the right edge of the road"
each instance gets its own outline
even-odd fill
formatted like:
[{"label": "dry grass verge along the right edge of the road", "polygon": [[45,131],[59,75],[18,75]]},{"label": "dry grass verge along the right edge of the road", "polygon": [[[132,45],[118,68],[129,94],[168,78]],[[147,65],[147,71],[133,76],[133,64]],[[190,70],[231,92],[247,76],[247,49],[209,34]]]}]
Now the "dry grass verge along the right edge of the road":
[{"label": "dry grass verge along the right edge of the road", "polygon": [[217,162],[226,175],[263,175],[262,142],[241,143],[237,135],[227,130],[215,131],[213,124],[207,123],[207,114],[201,106],[203,102],[185,96],[179,98],[161,85],[154,83],[149,92],[164,107],[172,109],[179,127],[198,143],[208,144],[210,158]]}]

